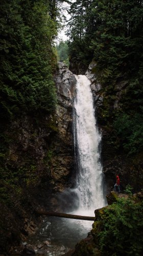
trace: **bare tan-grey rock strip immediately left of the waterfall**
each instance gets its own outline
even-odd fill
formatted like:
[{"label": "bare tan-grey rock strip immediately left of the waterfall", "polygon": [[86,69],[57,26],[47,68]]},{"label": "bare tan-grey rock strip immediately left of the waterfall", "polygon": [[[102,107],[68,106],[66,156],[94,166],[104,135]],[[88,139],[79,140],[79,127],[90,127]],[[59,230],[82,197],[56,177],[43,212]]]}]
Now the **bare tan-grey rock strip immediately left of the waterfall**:
[{"label": "bare tan-grey rock strip immediately left of the waterfall", "polygon": [[55,191],[63,191],[70,187],[69,176],[74,167],[73,139],[73,100],[76,78],[63,63],[58,63],[55,75],[58,93],[58,106],[55,113],[57,133],[52,142],[53,156],[51,159],[51,176]]}]

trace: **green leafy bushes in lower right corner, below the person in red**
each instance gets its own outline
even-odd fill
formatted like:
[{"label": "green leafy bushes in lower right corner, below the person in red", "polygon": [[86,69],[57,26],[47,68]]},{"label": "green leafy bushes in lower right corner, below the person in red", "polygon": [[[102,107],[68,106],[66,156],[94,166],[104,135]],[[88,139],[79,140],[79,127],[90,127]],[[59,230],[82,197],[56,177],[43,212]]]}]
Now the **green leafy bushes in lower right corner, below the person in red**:
[{"label": "green leafy bushes in lower right corner, below the person in red", "polygon": [[[120,198],[104,208],[97,244],[101,255],[133,255],[142,252],[143,202]],[[94,224],[96,225],[96,223]],[[93,229],[96,226],[93,225]]]}]

